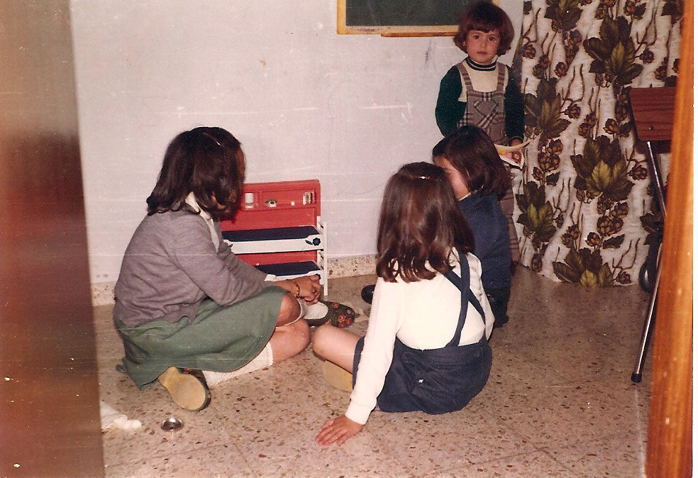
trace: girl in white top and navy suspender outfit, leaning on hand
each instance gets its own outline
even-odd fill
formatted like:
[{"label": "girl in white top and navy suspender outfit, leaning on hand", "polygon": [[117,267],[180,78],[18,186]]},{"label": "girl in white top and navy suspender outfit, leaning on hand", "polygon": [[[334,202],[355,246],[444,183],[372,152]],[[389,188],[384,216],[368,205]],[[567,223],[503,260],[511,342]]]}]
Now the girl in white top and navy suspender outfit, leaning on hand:
[{"label": "girl in white top and navy suspender outfit, leaning on hand", "polygon": [[416,162],[389,179],[367,333],[321,326],[313,336],[328,382],[353,387],[344,416],[323,424],[318,444],[341,445],[376,406],[447,413],[480,393],[492,365],[494,316],[472,244],[443,169]]}]

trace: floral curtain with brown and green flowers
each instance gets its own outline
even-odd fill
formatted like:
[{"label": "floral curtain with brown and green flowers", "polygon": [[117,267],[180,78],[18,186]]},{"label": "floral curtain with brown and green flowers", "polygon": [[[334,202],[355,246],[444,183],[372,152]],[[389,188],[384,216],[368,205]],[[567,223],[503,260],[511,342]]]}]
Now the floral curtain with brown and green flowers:
[{"label": "floral curtain with brown and green flowers", "polygon": [[534,271],[588,287],[638,281],[661,216],[628,91],[675,85],[682,8],[524,1],[517,60],[531,143],[514,221]]}]

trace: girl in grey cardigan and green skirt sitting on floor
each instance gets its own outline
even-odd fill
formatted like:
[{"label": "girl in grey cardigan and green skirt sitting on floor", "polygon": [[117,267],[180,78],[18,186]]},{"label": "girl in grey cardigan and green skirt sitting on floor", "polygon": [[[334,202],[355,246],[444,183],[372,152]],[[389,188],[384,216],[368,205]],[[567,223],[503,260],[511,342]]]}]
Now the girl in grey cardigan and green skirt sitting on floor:
[{"label": "girl in grey cardigan and green skirt sitting on floor", "polygon": [[317,276],[275,280],[223,242],[218,218],[236,211],[244,172],[240,142],[223,128],[177,135],[114,289],[123,371],[140,389],[158,380],[189,410],[209,405],[209,385],[304,350],[309,323],[353,319],[318,302]]}]

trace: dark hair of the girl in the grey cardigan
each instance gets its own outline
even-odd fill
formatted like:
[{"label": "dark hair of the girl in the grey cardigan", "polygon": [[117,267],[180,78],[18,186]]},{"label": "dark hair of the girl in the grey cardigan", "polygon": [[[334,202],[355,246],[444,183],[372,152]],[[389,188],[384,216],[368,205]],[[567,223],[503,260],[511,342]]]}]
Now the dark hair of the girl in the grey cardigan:
[{"label": "dark hair of the girl in the grey cardigan", "polygon": [[237,210],[245,179],[245,156],[240,141],[223,128],[202,126],[179,133],[165,151],[160,176],[145,202],[148,216],[187,209],[194,192],[201,209],[220,218]]}]

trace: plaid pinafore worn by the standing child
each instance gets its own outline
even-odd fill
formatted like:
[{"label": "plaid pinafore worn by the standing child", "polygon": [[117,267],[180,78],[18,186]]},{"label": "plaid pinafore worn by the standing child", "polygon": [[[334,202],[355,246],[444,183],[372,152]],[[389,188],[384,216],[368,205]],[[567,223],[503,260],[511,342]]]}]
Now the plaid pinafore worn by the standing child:
[{"label": "plaid pinafore worn by the standing child", "polygon": [[[497,63],[497,88],[494,91],[475,91],[467,74],[467,68],[462,62],[458,63],[458,71],[465,87],[467,102],[465,113],[458,128],[465,125],[474,125],[482,128],[489,138],[498,145],[509,145],[509,138],[506,136],[504,128],[504,79],[506,78],[506,66]],[[508,168],[508,167],[507,167]],[[499,199],[502,212],[506,217],[509,228],[509,250],[511,250],[511,260],[519,262],[521,254],[519,252],[519,239],[516,236],[514,227],[514,191],[509,187],[502,199]]]}]

